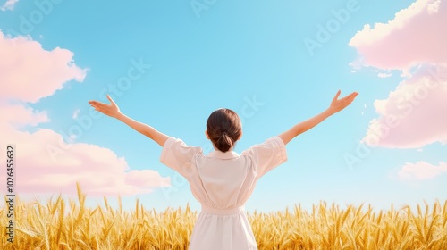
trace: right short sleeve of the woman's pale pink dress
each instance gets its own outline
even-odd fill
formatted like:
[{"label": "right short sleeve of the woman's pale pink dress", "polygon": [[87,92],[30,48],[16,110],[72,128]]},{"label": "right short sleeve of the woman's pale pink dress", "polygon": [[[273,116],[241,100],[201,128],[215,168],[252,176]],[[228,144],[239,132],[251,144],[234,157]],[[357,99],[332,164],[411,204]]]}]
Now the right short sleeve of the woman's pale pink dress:
[{"label": "right short sleeve of the woman's pale pink dress", "polygon": [[280,137],[268,138],[264,143],[249,147],[242,152],[248,156],[257,168],[257,179],[287,161],[287,152]]}]

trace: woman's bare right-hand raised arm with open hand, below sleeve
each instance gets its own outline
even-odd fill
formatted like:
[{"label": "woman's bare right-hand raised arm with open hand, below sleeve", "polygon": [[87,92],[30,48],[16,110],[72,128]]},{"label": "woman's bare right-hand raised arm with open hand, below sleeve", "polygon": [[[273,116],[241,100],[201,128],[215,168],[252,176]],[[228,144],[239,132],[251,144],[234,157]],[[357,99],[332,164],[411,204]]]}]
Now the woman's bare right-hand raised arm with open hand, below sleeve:
[{"label": "woman's bare right-hand raised arm with open hand, below sleeve", "polygon": [[298,123],[291,129],[279,135],[279,137],[283,139],[284,144],[288,144],[294,137],[297,137],[299,134],[308,131],[308,129],[314,128],[321,121],[325,121],[325,119],[328,118],[329,116],[333,115],[336,112],[341,111],[342,109],[347,107],[350,103],[352,103],[352,101],[354,101],[354,98],[358,95],[357,92],[352,92],[349,96],[345,96],[342,99],[338,99],[340,93],[341,91],[339,90],[337,94],[333,97],[333,101],[329,106],[329,108],[327,108],[324,112],[317,114],[316,116],[308,119],[307,121],[302,121]]}]

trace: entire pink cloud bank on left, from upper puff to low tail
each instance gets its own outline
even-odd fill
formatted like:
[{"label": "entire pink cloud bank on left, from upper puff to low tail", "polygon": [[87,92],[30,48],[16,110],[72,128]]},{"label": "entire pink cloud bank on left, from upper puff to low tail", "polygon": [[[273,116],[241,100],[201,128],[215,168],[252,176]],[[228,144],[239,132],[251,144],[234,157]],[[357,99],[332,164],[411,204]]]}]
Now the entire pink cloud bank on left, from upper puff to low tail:
[{"label": "entire pink cloud bank on left, from upper puff to low tail", "polygon": [[[36,112],[27,103],[51,96],[65,82],[82,81],[86,75],[72,56],[71,51],[46,51],[30,38],[5,37],[0,32],[0,137],[17,148],[15,191],[75,194],[80,182],[89,195],[125,196],[170,187],[170,178],[156,171],[130,171],[127,162],[110,149],[65,143],[55,131],[38,128],[50,120],[45,111]],[[5,154],[0,154],[0,162],[5,161]],[[0,178],[6,179],[5,171],[0,171]]]}]

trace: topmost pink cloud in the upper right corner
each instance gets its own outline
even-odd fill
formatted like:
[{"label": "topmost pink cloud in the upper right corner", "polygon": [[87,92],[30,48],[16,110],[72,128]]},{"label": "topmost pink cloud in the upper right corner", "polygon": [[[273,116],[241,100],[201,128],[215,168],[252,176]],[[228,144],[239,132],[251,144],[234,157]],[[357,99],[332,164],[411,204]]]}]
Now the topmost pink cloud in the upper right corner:
[{"label": "topmost pink cloud in the upper right corner", "polygon": [[447,3],[417,0],[392,21],[376,23],[351,38],[364,65],[384,70],[409,69],[418,63],[447,63]]}]

